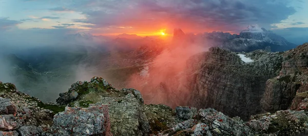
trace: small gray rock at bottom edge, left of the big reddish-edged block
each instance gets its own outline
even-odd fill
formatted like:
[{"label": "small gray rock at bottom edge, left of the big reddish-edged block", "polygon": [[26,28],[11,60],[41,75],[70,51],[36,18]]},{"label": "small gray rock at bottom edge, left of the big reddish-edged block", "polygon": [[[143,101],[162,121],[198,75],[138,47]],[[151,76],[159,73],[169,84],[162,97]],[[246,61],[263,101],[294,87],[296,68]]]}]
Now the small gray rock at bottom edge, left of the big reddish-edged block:
[{"label": "small gray rock at bottom edge, left of the big reddish-edged block", "polygon": [[41,127],[29,125],[29,126],[22,126],[18,128],[18,132],[20,132],[22,136],[41,135],[41,133],[43,132],[43,129]]}]

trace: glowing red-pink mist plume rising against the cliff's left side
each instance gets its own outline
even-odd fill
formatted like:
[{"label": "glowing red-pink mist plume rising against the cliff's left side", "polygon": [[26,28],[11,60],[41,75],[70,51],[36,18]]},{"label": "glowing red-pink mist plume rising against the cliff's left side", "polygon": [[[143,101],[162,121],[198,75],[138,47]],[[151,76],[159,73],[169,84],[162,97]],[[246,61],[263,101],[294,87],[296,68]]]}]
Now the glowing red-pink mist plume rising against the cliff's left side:
[{"label": "glowing red-pink mist plume rising against the cliff's left side", "polygon": [[166,104],[171,107],[185,105],[189,98],[186,89],[186,72],[191,67],[191,56],[208,50],[200,44],[185,43],[171,46],[158,55],[153,61],[147,63],[144,69],[130,77],[127,87],[141,91],[145,103]]}]

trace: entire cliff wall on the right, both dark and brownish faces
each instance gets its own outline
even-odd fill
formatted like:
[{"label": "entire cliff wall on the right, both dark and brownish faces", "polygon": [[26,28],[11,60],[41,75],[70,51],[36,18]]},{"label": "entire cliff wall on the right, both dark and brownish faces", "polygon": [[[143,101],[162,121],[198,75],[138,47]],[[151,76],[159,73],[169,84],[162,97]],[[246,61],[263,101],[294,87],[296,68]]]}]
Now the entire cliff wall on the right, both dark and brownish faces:
[{"label": "entire cliff wall on the right, both dark and brownish faces", "polygon": [[191,90],[188,105],[212,107],[243,119],[298,105],[305,97],[297,94],[307,91],[307,50],[306,43],[281,53],[242,53],[253,62],[219,48],[195,55],[188,61],[196,66],[187,74],[191,79],[186,88]]}]

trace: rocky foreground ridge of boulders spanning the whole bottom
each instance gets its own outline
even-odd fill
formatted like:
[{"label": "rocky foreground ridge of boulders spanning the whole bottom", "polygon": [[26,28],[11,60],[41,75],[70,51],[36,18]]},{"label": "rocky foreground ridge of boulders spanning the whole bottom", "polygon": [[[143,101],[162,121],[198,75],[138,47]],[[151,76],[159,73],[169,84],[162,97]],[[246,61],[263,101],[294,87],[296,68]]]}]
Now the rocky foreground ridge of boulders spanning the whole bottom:
[{"label": "rocky foreground ridge of boulders spanning the whole bottom", "polygon": [[244,122],[213,108],[145,105],[138,90],[118,90],[99,77],[72,84],[57,103],[42,103],[13,84],[0,83],[0,135],[308,134],[306,108],[256,115]]}]

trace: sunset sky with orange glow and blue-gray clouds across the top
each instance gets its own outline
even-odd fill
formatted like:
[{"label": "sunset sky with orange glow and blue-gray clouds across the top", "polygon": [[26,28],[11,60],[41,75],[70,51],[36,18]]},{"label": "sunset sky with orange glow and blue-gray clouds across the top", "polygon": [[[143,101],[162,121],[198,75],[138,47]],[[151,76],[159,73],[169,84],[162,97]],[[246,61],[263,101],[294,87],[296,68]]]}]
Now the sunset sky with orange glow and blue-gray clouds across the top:
[{"label": "sunset sky with orange glow and blue-gray clouds across the top", "polygon": [[[299,0],[296,1],[300,3]],[[8,17],[10,18],[0,17],[0,30],[8,30],[21,24],[27,24],[25,26],[29,28],[31,26],[29,24],[32,23],[32,26],[35,26],[34,23],[36,23],[44,24],[41,25],[43,29],[50,24],[49,29],[70,29],[75,30],[75,32],[87,31],[91,34],[103,35],[118,33],[146,34],[148,32],[159,31],[159,29],[166,29],[166,33],[172,33],[174,28],[181,28],[183,31],[191,33],[211,31],[239,33],[246,26],[254,24],[258,24],[260,27],[266,29],[278,28],[275,24],[279,24],[282,20],[287,19],[290,15],[297,12],[296,8],[291,6],[292,2],[295,1],[27,1],[23,3],[27,3],[28,5],[39,3],[44,5],[44,7],[48,5],[42,10],[47,11],[49,14],[31,14],[27,15],[30,18],[20,18],[18,20],[11,19],[9,15]],[[76,14],[80,16],[76,17]],[[68,16],[73,19],[64,21],[63,19]],[[296,20],[290,23],[292,27],[305,24],[308,24],[308,22],[304,20]],[[281,29],[275,30],[274,32],[279,34],[285,33],[286,30]],[[302,30],[306,29],[303,28]],[[48,32],[52,33],[53,30]]]}]

